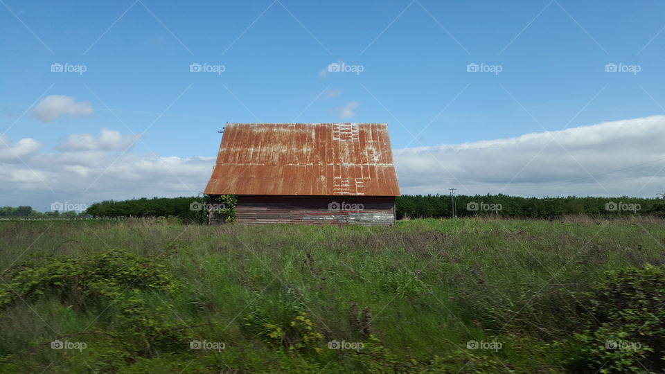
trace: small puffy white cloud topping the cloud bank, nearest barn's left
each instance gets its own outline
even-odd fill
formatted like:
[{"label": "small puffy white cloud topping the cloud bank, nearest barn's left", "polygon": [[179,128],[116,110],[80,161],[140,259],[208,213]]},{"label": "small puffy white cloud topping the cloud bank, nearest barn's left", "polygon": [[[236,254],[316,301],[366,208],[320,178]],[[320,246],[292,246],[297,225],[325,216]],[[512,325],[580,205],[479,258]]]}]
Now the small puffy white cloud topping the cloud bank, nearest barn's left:
[{"label": "small puffy white cloud topping the cloud bank, nearest barn's left", "polygon": [[123,135],[116,130],[102,129],[99,136],[92,134],[72,134],[65,139],[59,149],[69,152],[98,150],[130,150],[139,140],[139,135]]}]

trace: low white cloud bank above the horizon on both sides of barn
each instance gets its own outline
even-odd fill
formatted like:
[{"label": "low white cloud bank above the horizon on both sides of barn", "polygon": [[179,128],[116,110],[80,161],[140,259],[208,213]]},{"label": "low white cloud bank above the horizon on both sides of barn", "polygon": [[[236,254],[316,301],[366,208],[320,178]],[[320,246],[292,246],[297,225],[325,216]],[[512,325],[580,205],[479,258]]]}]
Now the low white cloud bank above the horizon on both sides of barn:
[{"label": "low white cloud bank above the horizon on both sides of barn", "polygon": [[[205,188],[214,157],[136,151],[118,155],[130,138],[105,130],[91,136],[94,146],[48,153],[38,152],[40,143],[33,139],[10,143],[3,138],[26,156],[28,165],[0,157],[0,206],[30,205],[43,211],[56,201],[91,204],[191,196]],[[465,194],[655,197],[665,190],[663,139],[665,116],[652,116],[509,139],[407,148],[395,150],[393,157],[400,190],[407,194],[445,194],[454,187]],[[213,156],[215,149],[206,153]],[[0,155],[6,155],[6,147]]]}]

